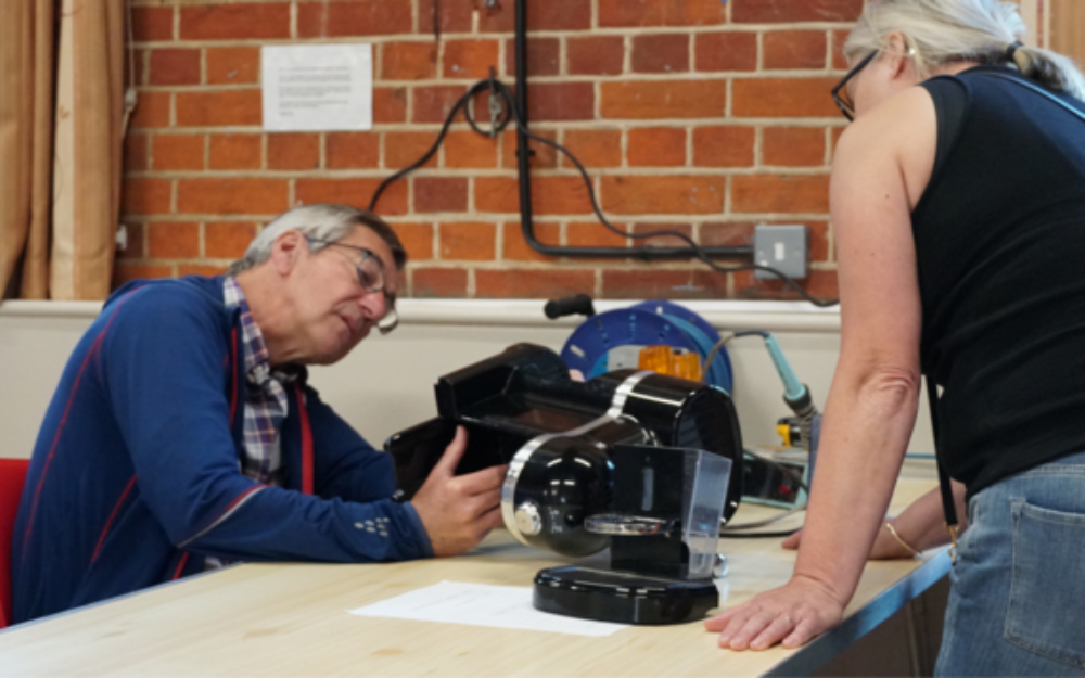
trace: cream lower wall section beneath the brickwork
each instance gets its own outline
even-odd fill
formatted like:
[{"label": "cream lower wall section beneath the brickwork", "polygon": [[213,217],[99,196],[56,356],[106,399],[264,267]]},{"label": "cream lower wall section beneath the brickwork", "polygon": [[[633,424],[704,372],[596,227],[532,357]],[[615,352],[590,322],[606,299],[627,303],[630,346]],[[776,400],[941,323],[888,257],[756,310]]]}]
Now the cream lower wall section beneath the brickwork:
[{"label": "cream lower wall section beneath the brickwork", "polygon": [[[600,302],[597,308],[626,306]],[[774,332],[789,360],[824,405],[840,349],[835,310],[805,304],[689,302],[719,329]],[[311,371],[312,384],[376,446],[388,435],[435,414],[433,384],[519,342],[560,349],[577,324],[542,317],[541,302],[401,302],[404,322],[390,336],[363,342],[341,363]],[[5,302],[0,305],[0,457],[27,457],[68,355],[98,311],[92,303]],[[760,340],[730,344],[735,400],[748,443],[771,445],[789,412],[782,386]],[[912,451],[933,449],[926,413]]]}]

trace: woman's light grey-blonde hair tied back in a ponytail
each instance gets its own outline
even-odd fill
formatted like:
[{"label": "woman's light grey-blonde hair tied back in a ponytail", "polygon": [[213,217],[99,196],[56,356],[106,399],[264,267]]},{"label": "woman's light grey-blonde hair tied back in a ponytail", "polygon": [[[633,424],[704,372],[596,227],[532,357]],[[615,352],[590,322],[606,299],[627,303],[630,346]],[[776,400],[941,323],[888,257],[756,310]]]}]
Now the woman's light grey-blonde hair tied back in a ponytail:
[{"label": "woman's light grey-blonde hair tied back in a ponytail", "polygon": [[920,78],[945,64],[1013,63],[1049,89],[1085,100],[1085,76],[1069,57],[1026,44],[1017,4],[1000,0],[871,0],[844,43],[848,61],[883,50],[891,33],[904,36]]}]

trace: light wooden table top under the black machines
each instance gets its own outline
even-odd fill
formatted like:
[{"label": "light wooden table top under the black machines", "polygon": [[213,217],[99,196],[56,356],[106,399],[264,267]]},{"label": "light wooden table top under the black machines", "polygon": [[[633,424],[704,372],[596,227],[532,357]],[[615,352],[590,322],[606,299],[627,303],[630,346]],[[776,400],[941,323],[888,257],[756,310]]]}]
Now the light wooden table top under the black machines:
[{"label": "light wooden table top under the black machines", "polygon": [[[932,486],[902,479],[894,509]],[[735,521],[764,511],[743,504]],[[794,563],[779,539],[722,540],[720,551],[730,561],[725,605],[783,584]],[[0,676],[808,674],[949,566],[944,551],[870,563],[844,624],[793,651],[724,651],[699,623],[587,638],[346,612],[446,579],[529,587],[538,570],[561,562],[501,530],[455,559],[239,565],[0,631]]]}]

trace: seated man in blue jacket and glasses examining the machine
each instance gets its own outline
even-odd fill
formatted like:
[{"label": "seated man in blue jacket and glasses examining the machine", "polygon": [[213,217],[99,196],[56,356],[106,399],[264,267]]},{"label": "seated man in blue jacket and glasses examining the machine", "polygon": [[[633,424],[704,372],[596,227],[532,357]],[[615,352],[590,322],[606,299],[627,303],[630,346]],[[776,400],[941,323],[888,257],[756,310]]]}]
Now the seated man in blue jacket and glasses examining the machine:
[{"label": "seated man in blue jacket and glasses examining the machine", "polygon": [[501,521],[505,469],[452,477],[462,431],[410,503],[390,458],[306,385],[396,323],[406,253],[340,205],[277,218],[224,278],[117,290],[35,446],[12,552],[25,622],[220,565],[451,555]]}]

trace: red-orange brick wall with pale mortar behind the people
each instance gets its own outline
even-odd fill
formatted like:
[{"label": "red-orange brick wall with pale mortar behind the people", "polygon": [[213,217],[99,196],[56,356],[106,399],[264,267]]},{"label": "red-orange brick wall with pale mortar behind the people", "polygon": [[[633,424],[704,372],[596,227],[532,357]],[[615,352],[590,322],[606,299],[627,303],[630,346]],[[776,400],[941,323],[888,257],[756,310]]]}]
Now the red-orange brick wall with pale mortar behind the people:
[{"label": "red-orange brick wall with pale mortar behind the people", "polygon": [[[136,4],[140,103],[125,151],[129,244],[117,282],[219,272],[291,205],[365,206],[490,65],[512,84],[512,0]],[[584,162],[623,229],[674,228],[730,245],[749,243],[756,223],[808,223],[807,284],[832,295],[828,171],[844,120],[829,89],[861,4],[528,0],[532,128]],[[264,132],[259,47],[343,41],[374,44],[373,130]],[[411,258],[406,296],[792,296],[695,261],[534,253],[520,234],[514,149],[512,131],[490,140],[460,123],[426,167],[382,196],[378,212]],[[539,240],[624,246],[595,221],[571,164],[537,151]]]}]

